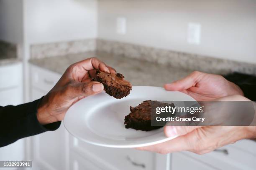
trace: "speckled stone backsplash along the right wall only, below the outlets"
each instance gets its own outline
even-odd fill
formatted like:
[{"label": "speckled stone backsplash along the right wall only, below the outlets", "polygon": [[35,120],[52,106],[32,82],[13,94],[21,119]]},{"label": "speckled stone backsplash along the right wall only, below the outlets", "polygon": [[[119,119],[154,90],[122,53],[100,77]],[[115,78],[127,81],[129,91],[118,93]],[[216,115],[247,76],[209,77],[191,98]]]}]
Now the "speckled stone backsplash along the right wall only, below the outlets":
[{"label": "speckled stone backsplash along the right wall only, below the outlets", "polygon": [[96,49],[97,51],[104,51],[114,55],[137,58],[186,70],[198,70],[216,74],[237,71],[256,75],[256,64],[224,60],[172,50],[163,50],[124,42],[97,39]]}]

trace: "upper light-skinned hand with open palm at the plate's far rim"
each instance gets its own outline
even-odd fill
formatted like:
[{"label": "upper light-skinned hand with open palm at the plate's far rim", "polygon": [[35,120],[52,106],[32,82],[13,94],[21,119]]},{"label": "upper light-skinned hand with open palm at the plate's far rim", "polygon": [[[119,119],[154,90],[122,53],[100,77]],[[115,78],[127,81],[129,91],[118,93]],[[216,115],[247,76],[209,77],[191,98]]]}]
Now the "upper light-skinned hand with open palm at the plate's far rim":
[{"label": "upper light-skinned hand with open palm at the plate's far rim", "polygon": [[165,90],[180,91],[197,101],[215,100],[228,95],[243,95],[243,91],[221,75],[192,72],[187,77],[164,85]]}]

